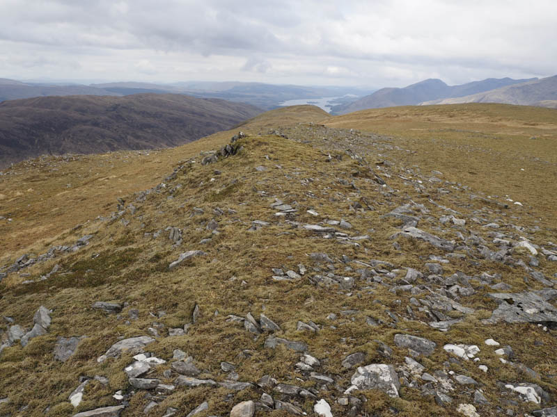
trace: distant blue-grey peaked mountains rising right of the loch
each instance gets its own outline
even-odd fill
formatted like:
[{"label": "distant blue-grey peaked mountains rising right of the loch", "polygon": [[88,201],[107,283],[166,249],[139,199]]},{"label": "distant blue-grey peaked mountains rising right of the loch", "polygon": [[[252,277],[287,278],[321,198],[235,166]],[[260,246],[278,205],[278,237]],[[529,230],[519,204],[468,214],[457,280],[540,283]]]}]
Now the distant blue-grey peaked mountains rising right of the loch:
[{"label": "distant blue-grey peaked mountains rising right of the loch", "polygon": [[485,79],[483,81],[473,81],[462,85],[447,85],[438,79],[428,79],[408,85],[405,88],[382,88],[372,95],[362,97],[351,104],[334,107],[333,113],[343,115],[366,108],[409,106],[420,104],[423,101],[471,95],[476,92],[493,90],[494,88],[503,87],[504,85],[512,85],[524,81],[526,80],[504,78]]}]

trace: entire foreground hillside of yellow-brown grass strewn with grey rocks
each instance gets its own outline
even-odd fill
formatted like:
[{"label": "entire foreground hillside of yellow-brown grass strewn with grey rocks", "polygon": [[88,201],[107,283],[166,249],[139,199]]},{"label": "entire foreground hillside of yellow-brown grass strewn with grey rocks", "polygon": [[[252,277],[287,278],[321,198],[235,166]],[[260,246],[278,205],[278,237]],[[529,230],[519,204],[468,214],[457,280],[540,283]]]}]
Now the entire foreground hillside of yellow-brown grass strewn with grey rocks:
[{"label": "entire foreground hillside of yellow-brown grass strewn with grey rocks", "polygon": [[241,129],[1,172],[0,415],[555,414],[554,111]]}]

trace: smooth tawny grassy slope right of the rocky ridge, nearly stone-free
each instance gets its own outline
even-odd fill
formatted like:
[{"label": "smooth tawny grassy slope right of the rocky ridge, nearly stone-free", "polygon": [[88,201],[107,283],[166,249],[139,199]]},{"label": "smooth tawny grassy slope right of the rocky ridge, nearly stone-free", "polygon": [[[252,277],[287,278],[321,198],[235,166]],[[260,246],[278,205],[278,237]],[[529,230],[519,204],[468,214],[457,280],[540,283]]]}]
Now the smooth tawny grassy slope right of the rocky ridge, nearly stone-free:
[{"label": "smooth tawny grassy slope right of the rocky ridge, nearly stone-free", "polygon": [[[450,181],[509,195],[554,221],[557,111],[505,104],[370,109],[331,117],[327,126],[396,138],[407,166],[439,170]],[[522,170],[524,169],[524,170]]]}]

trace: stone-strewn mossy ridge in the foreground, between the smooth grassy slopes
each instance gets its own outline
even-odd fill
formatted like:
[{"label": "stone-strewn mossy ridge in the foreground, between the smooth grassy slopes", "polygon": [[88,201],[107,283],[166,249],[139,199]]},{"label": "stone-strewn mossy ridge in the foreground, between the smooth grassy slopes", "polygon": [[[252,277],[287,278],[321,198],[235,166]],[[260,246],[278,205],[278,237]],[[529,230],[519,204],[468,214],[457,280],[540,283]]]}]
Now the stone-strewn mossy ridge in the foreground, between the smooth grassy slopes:
[{"label": "stone-strewn mossy ridge in the foreground, between the smooth grassy slopes", "polygon": [[[520,202],[399,166],[397,152],[405,149],[389,138],[315,124],[239,134],[118,201],[83,245],[59,246],[76,250],[58,251],[58,268],[54,255],[37,258],[48,273],[30,256],[4,265],[0,273],[19,273],[21,283],[4,292],[3,311],[25,316],[10,306],[24,294],[50,306],[56,345],[46,343],[45,361],[77,366],[79,379],[71,388],[65,380],[66,398],[46,409],[13,391],[0,407],[554,415],[555,364],[533,361],[532,351],[555,346],[555,230],[536,227]],[[131,255],[124,264],[107,252]],[[141,270],[139,256],[156,268]],[[120,266],[107,272],[95,259]],[[86,288],[95,300],[75,313],[95,317],[102,334],[67,317],[64,294]],[[49,322],[51,312],[39,311]],[[13,335],[24,335],[5,320],[0,361],[19,370],[0,384],[13,389],[29,348],[48,336],[16,346]],[[517,334],[528,338],[516,343]]]}]

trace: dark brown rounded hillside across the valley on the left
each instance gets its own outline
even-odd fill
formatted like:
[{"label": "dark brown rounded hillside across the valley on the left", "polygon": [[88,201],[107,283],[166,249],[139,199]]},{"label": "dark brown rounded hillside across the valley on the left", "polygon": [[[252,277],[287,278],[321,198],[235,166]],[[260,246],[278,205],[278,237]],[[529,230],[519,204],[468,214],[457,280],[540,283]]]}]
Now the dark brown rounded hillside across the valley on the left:
[{"label": "dark brown rounded hillside across the valley on the left", "polygon": [[260,113],[185,95],[37,97],[0,103],[0,167],[42,154],[182,145]]}]

